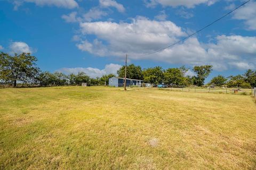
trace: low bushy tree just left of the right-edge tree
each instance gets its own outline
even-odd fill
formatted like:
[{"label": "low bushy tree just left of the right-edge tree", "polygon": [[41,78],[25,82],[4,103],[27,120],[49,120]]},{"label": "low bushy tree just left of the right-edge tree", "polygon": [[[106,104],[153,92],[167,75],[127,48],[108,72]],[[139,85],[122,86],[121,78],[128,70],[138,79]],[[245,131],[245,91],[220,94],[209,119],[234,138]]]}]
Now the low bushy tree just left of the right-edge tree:
[{"label": "low bushy tree just left of the right-edge tree", "polygon": [[251,84],[248,82],[245,82],[245,79],[242,75],[231,75],[228,77],[229,80],[227,82],[228,87],[237,87],[237,88],[250,88]]}]

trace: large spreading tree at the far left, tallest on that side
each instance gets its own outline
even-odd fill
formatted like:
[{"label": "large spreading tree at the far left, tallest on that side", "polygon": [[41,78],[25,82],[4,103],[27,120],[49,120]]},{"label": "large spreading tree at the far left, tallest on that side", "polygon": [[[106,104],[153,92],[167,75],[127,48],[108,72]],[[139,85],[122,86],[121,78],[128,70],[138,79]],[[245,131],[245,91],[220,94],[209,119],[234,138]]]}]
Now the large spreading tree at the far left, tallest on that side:
[{"label": "large spreading tree at the far left, tallest on that side", "polygon": [[30,53],[14,54],[10,56],[7,53],[0,54],[0,79],[17,86],[17,81],[34,81],[39,68],[36,67],[37,58]]}]

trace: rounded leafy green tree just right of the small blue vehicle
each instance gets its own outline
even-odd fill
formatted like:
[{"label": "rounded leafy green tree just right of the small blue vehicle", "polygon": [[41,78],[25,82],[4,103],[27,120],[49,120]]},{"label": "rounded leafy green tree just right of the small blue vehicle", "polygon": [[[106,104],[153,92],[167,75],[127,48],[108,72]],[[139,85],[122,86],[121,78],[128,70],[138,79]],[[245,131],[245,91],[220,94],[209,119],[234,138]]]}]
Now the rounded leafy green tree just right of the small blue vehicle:
[{"label": "rounded leafy green tree just right of the small blue vehicle", "polygon": [[165,84],[175,84],[177,86],[185,85],[185,77],[183,72],[178,68],[170,68],[164,72],[164,83]]}]

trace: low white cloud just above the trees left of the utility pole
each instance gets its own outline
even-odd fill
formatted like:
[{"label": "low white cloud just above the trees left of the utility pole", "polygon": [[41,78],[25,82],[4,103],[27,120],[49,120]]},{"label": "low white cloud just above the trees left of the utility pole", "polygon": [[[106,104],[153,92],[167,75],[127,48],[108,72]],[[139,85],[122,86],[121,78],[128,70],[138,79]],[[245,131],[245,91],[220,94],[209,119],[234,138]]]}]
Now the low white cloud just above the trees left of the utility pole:
[{"label": "low white cloud just above the trees left of the utility pole", "polygon": [[121,65],[118,64],[107,64],[105,66],[105,69],[97,69],[97,68],[92,68],[92,67],[76,67],[76,68],[62,68],[59,69],[58,71],[65,73],[65,74],[70,74],[74,73],[77,74],[78,72],[85,72],[87,75],[89,75],[91,78],[97,78],[97,77],[102,77],[102,75],[105,74],[116,74],[117,70],[121,68]]}]

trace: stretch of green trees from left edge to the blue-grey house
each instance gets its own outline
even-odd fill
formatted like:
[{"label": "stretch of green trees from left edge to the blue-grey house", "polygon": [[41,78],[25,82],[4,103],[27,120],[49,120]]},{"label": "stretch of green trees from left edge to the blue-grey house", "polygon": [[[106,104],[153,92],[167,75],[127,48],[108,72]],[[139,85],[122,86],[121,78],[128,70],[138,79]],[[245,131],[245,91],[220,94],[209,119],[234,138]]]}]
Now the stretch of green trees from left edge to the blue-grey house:
[{"label": "stretch of green trees from left edge to the blue-grey house", "polygon": [[86,73],[65,75],[61,72],[50,73],[42,72],[36,66],[37,58],[29,53],[0,54],[0,82],[11,84],[17,87],[17,83],[39,84],[42,87],[47,86],[81,86],[82,83],[91,85],[108,84],[108,79],[115,77],[114,74],[103,75],[101,78],[90,78]]}]

